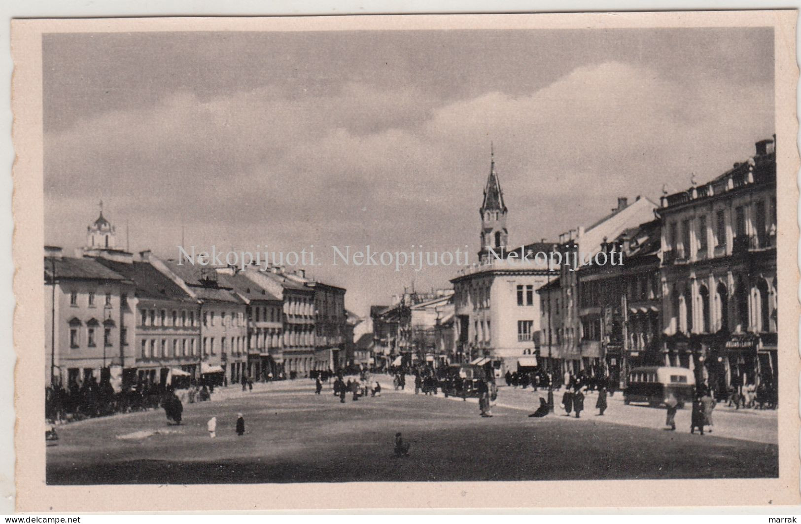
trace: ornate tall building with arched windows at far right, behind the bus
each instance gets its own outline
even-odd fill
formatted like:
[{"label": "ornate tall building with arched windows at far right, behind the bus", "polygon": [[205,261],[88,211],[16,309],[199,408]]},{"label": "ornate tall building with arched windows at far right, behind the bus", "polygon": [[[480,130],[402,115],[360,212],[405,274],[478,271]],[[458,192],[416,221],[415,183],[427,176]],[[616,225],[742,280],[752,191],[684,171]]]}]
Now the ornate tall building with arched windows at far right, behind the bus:
[{"label": "ornate tall building with arched windows at far right, behind the bus", "polygon": [[774,137],[711,182],[662,196],[666,363],[720,394],[776,387],[775,184]]}]

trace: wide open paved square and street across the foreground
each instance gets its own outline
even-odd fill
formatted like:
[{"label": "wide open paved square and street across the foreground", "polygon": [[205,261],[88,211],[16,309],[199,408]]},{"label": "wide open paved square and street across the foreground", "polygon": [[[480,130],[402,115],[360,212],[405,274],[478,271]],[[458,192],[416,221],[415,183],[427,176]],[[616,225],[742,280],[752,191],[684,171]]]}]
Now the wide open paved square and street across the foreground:
[{"label": "wide open paved square and street across the foreground", "polygon": [[[163,410],[60,426],[48,447],[53,484],[194,482],[344,482],[561,480],[602,478],[736,478],[778,473],[775,412],[715,413],[714,433],[688,432],[688,410],[676,432],[662,429],[664,410],[610,401],[581,419],[525,417],[538,402],[530,389],[501,388],[493,418],[472,401],[392,391],[319,397],[299,380],[231,388],[211,402],[186,405],[184,424]],[[409,382],[407,382],[409,384]],[[558,403],[557,394],[557,403]],[[525,409],[522,409],[525,408]],[[244,413],[248,433],[234,432]],[[558,412],[557,412],[558,413]],[[217,417],[217,438],[206,421]],[[161,433],[155,433],[155,432]],[[393,437],[412,442],[396,458]],[[124,438],[120,438],[124,437]]]}]

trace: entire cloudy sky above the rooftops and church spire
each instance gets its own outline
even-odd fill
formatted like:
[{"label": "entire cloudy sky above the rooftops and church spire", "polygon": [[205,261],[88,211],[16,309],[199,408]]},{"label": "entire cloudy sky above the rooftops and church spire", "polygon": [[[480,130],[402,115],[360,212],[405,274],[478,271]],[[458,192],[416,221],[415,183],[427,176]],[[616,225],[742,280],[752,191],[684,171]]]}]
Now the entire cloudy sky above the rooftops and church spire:
[{"label": "entire cloudy sky above the rooftops and church spire", "polygon": [[45,240],[98,201],[132,251],[297,251],[359,314],[414,279],[331,245],[478,249],[495,144],[509,240],[711,179],[774,132],[771,29],[57,34],[43,40]]}]

